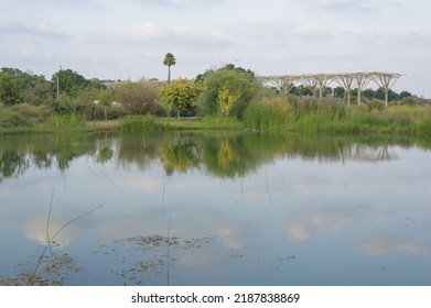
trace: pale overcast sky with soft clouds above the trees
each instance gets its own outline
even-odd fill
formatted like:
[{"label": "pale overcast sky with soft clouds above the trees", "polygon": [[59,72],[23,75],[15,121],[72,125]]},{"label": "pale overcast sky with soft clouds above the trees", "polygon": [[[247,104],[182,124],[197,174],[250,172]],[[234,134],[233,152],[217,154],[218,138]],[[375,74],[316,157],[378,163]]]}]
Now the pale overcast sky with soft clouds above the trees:
[{"label": "pale overcast sky with soft clouds above the trees", "polygon": [[[0,0],[0,67],[47,79],[388,72],[431,97],[429,0]],[[371,85],[370,85],[371,86]]]}]

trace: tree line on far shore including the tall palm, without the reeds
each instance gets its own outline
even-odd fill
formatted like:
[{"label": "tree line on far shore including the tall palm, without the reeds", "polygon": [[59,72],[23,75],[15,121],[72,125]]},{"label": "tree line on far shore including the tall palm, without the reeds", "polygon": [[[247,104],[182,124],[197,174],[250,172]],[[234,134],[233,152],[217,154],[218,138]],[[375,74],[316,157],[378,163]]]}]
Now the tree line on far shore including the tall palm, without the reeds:
[{"label": "tree line on far shore including the tall palm, without the reeds", "polygon": [[[172,54],[163,64],[175,65]],[[311,97],[312,89],[294,86],[291,96]],[[342,101],[343,87],[326,88],[325,97]],[[352,97],[357,90],[352,91]],[[72,69],[60,69],[51,79],[3,67],[0,72],[0,127],[29,125],[46,121],[52,114],[80,114],[86,120],[116,119],[127,114],[220,116],[241,119],[254,102],[280,96],[276,88],[260,85],[255,73],[233,64],[208,69],[194,79],[179,78],[170,82],[157,79],[104,82],[87,79]],[[365,102],[381,100],[382,89],[366,89]],[[410,92],[389,91],[389,101],[417,103]]]}]

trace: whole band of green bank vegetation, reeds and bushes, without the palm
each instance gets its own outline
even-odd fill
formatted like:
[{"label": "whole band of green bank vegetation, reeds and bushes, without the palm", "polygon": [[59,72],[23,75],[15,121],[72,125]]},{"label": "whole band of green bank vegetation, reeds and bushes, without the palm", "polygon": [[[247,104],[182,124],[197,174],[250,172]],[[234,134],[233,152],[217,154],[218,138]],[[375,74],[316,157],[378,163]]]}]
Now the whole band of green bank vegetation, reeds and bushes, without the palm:
[{"label": "whole band of green bank vegetation, reeds and bushes, without the palm", "polygon": [[[352,90],[354,100],[357,90]],[[258,82],[255,73],[228,64],[195,79],[101,81],[62,69],[43,76],[2,68],[0,130],[248,129],[343,133],[430,134],[431,105],[407,91],[366,89],[362,106],[347,107],[343,88],[312,96],[305,86],[285,96]],[[197,120],[173,120],[186,117]],[[111,124],[96,124],[110,120]],[[182,119],[183,120],[183,119]],[[87,125],[85,124],[87,122]],[[91,125],[93,123],[93,125]]]}]

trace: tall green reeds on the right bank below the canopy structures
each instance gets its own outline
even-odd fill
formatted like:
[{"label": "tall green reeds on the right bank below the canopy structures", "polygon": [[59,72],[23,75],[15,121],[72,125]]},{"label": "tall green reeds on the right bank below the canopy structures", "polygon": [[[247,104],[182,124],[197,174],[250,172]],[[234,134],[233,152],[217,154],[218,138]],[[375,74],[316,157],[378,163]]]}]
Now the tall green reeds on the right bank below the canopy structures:
[{"label": "tall green reeds on the right bank below the canopy structures", "polygon": [[332,99],[267,99],[250,106],[245,127],[258,131],[431,134],[431,106],[351,107]]}]

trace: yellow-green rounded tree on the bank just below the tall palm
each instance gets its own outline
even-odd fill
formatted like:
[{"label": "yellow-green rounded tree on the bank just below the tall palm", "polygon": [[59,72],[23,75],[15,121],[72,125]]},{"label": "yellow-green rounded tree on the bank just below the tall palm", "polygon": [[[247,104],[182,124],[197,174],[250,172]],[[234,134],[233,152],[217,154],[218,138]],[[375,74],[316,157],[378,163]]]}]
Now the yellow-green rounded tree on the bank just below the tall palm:
[{"label": "yellow-green rounded tree on the bank just below the tall palm", "polygon": [[180,119],[181,111],[193,110],[194,101],[196,100],[201,89],[193,80],[179,78],[172,84],[165,84],[160,92],[163,102],[170,109],[176,109],[177,118]]}]

